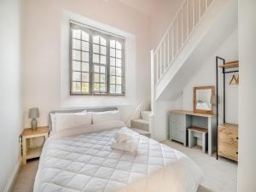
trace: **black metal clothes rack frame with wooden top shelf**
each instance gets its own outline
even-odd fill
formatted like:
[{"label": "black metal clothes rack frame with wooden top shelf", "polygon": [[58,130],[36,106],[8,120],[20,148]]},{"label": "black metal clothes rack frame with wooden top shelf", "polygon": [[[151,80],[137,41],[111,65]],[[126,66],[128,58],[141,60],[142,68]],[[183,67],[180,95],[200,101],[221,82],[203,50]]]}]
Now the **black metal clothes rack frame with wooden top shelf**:
[{"label": "black metal clothes rack frame with wooden top shelf", "polygon": [[[222,69],[223,73],[223,93],[224,93],[224,108],[223,108],[223,114],[224,114],[224,119],[223,119],[223,125],[226,123],[225,119],[225,114],[226,114],[226,109],[225,109],[225,78],[227,73],[238,73],[239,72],[239,61],[230,61],[230,62],[225,62],[224,58],[221,58],[219,56],[216,56],[216,103],[217,103],[217,136],[218,136],[218,69]],[[216,153],[216,159],[218,160],[218,137],[217,137],[217,153]]]}]

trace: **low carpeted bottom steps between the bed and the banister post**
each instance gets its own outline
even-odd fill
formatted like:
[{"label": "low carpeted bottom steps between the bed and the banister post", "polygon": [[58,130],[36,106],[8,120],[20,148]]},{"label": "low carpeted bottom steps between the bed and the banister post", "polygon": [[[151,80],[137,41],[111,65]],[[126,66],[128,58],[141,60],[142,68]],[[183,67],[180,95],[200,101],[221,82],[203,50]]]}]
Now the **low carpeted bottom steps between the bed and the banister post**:
[{"label": "low carpeted bottom steps between the bed and the banister post", "polygon": [[131,130],[139,134],[150,137],[149,132],[149,115],[151,111],[141,111],[139,119],[131,119]]}]

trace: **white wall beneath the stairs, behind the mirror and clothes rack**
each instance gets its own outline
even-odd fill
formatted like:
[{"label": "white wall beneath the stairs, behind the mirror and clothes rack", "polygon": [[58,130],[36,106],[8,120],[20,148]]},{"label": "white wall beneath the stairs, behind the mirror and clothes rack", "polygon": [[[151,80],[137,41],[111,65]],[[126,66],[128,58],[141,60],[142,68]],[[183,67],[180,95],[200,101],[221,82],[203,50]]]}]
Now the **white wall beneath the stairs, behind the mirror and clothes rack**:
[{"label": "white wall beneath the stairs, behind the mirror and clothes rack", "polygon": [[[218,50],[212,54],[208,61],[202,65],[200,70],[195,76],[189,81],[189,84],[183,89],[183,95],[180,99],[183,100],[183,106],[181,108],[185,110],[193,110],[193,88],[195,86],[207,86],[216,84],[216,61],[215,56],[218,55],[225,59],[225,61],[236,61],[238,60],[238,36],[237,30],[233,32],[230,37],[223,43],[220,44]],[[223,75],[221,69],[219,69],[219,113],[220,122],[223,121]],[[236,76],[238,73],[234,73]],[[233,74],[226,74],[226,122],[238,123],[238,85],[229,85],[230,79]]]}]

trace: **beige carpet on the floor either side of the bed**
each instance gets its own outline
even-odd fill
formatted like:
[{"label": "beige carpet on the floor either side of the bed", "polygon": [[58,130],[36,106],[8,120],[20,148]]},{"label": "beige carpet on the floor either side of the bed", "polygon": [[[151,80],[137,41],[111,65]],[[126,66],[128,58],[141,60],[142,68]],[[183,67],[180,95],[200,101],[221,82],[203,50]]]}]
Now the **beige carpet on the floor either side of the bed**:
[{"label": "beige carpet on the floor either side of the bed", "polygon": [[[170,141],[164,143],[187,154],[201,166],[205,180],[197,192],[236,192],[236,163],[224,159],[216,160],[215,157],[203,154],[200,148],[184,148],[183,145]],[[37,169],[38,160],[31,160],[23,166],[13,192],[32,192]]]}]

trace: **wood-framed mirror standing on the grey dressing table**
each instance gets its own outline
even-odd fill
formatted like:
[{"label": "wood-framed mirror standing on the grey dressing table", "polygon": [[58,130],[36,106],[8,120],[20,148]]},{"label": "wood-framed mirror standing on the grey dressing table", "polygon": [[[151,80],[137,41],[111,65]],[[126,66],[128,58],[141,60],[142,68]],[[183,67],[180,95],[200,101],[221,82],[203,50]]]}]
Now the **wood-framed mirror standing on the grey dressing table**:
[{"label": "wood-framed mirror standing on the grey dressing table", "polygon": [[194,87],[194,112],[212,114],[213,96],[215,96],[214,86]]}]

